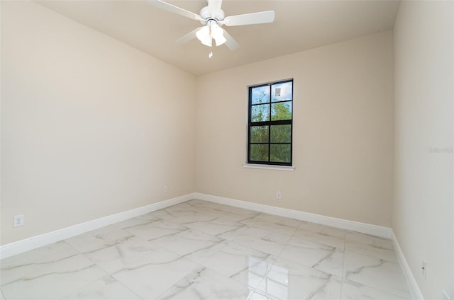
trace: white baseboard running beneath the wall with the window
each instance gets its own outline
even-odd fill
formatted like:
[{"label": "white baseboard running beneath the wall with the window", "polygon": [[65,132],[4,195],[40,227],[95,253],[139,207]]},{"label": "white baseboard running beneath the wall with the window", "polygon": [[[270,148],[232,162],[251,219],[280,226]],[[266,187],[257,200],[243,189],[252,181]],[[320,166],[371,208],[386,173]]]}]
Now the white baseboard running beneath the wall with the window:
[{"label": "white baseboard running beneath the wall with the window", "polygon": [[384,226],[377,226],[372,224],[366,224],[356,221],[348,221],[344,219],[338,219],[333,217],[321,216],[320,214],[311,214],[309,212],[300,212],[293,209],[285,209],[281,207],[272,207],[270,205],[258,204],[253,202],[235,200],[225,197],[218,197],[214,195],[195,193],[195,197],[200,200],[206,200],[219,204],[226,204],[233,207],[241,207],[244,209],[251,209],[258,212],[265,212],[267,214],[276,214],[281,217],[288,217],[298,219],[302,221],[309,221],[317,224],[323,224],[327,226],[338,227],[341,229],[348,229],[352,231],[358,231],[361,233],[371,234],[373,236],[380,236],[382,238],[391,238],[392,229]]}]

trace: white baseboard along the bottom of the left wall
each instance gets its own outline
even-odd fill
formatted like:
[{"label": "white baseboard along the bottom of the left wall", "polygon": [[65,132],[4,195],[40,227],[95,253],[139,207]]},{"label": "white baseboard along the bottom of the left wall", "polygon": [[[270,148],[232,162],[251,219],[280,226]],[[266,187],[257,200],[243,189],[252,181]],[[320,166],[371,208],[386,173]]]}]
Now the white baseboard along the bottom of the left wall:
[{"label": "white baseboard along the bottom of the left wall", "polygon": [[194,199],[195,197],[196,197],[195,193],[191,193],[180,197],[175,197],[169,200],[164,200],[161,202],[145,205],[144,207],[131,209],[126,212],[120,212],[118,214],[112,214],[107,217],[87,221],[85,223],[73,225],[70,227],[66,227],[64,229],[44,233],[39,236],[33,236],[31,238],[26,238],[24,240],[16,241],[14,243],[9,243],[4,246],[0,246],[0,259],[8,258],[12,255],[23,253],[28,250],[33,250],[35,248],[43,247],[50,243],[62,241],[65,238],[77,236],[78,234],[92,231],[94,229],[99,229],[101,227],[115,224],[120,221],[131,219],[133,217],[138,217],[142,214],[148,214],[149,212],[154,212],[155,210],[163,209],[165,207],[170,207],[175,204],[186,202],[188,200]]}]

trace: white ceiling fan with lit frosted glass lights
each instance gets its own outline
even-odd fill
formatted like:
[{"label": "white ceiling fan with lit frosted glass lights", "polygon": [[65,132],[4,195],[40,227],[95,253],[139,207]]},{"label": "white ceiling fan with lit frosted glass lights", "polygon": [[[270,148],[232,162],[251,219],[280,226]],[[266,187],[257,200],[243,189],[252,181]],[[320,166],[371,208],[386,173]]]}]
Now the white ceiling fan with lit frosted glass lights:
[{"label": "white ceiling fan with lit frosted glass lights", "polygon": [[200,40],[203,45],[211,47],[213,40],[216,46],[223,45],[224,43],[230,50],[237,50],[240,45],[236,42],[226,30],[221,28],[222,25],[238,26],[250,25],[261,23],[272,23],[275,21],[275,11],[260,11],[258,13],[245,13],[243,15],[228,16],[226,17],[221,9],[222,0],[207,0],[208,6],[201,8],[200,14],[192,13],[178,6],[169,4],[161,0],[148,0],[148,3],[162,8],[165,11],[177,13],[181,16],[200,21],[203,26],[192,30],[187,35],[180,37],[177,42],[184,44],[189,42],[194,37]]}]

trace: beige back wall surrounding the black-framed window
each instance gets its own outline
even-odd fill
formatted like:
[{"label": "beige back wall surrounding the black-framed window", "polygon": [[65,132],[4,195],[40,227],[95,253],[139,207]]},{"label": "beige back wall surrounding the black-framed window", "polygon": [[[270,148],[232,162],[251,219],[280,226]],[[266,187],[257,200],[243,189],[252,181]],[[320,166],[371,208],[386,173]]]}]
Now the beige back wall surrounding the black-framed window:
[{"label": "beige back wall surrounding the black-framed window", "polygon": [[[392,40],[377,33],[199,77],[197,192],[390,226]],[[243,168],[247,87],[289,78],[295,171]]]}]

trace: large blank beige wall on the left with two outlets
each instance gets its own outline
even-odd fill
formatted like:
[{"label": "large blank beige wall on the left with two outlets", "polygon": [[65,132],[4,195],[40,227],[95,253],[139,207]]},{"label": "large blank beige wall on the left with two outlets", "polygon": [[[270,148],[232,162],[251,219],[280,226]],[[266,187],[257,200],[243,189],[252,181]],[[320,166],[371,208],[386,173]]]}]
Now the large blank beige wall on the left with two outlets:
[{"label": "large blank beige wall on the left with two outlets", "polygon": [[195,88],[43,6],[1,1],[1,244],[194,192]]}]

